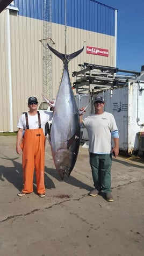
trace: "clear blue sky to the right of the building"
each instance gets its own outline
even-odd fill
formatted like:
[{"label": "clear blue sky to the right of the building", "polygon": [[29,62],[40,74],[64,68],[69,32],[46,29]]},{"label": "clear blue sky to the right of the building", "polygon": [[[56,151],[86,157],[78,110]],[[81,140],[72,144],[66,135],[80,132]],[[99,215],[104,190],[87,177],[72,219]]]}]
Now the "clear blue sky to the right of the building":
[{"label": "clear blue sky to the right of the building", "polygon": [[144,65],[144,0],[97,0],[118,9],[117,67],[140,72]]}]

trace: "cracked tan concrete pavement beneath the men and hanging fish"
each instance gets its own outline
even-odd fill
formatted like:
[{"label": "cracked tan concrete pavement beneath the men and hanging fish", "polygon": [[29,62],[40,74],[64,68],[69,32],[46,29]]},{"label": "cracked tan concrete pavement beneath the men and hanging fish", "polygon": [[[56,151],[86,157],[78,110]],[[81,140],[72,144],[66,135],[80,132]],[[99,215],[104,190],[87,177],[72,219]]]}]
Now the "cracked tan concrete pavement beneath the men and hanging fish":
[{"label": "cracked tan concrete pavement beneath the men and hanging fish", "polygon": [[80,147],[71,176],[61,181],[46,144],[46,197],[23,198],[16,137],[0,137],[1,256],[143,256],[144,162],[112,162],[114,202],[88,195],[93,188],[88,149]]}]

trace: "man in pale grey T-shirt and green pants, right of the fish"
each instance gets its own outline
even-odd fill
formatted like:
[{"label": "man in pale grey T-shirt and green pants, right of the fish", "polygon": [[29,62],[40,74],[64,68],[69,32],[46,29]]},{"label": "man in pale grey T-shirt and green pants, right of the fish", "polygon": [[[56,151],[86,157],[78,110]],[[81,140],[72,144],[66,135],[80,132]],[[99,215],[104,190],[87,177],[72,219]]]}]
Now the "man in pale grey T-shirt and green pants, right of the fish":
[{"label": "man in pale grey T-shirt and green pants, right of the fish", "polygon": [[[104,99],[97,96],[94,99],[95,113],[84,118],[80,116],[82,127],[85,127],[89,136],[90,166],[95,189],[89,195],[96,196],[102,190],[105,199],[113,202],[111,194],[111,165],[112,153],[115,158],[119,154],[119,133],[116,120],[111,113],[104,111]],[[80,109],[81,111],[84,108]],[[111,150],[111,137],[114,147]]]}]

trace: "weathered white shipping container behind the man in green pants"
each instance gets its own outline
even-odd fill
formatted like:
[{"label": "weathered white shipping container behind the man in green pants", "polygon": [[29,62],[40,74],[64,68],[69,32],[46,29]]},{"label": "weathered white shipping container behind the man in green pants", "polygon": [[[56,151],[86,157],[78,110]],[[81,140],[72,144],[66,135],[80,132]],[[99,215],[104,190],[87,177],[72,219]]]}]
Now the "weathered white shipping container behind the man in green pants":
[{"label": "weathered white shipping container behind the man in green pants", "polygon": [[[111,112],[116,119],[119,129],[120,151],[133,154],[139,150],[142,154],[144,148],[140,147],[144,131],[144,83],[128,81],[124,86],[99,91],[96,95],[103,96],[104,110]],[[93,98],[96,95],[77,95],[78,108],[90,103],[86,117],[93,113]],[[86,130],[86,129],[84,129]],[[88,133],[84,131],[83,140],[88,140]]]}]

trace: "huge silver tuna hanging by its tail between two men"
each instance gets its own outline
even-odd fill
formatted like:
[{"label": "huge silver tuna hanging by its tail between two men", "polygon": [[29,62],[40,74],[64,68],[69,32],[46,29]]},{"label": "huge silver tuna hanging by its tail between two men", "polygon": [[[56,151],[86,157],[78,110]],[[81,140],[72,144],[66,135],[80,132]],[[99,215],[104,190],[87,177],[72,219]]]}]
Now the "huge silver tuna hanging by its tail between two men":
[{"label": "huge silver tuna hanging by its tail between two men", "polygon": [[68,62],[80,54],[84,47],[71,54],[57,52],[48,48],[63,61],[63,74],[57,92],[53,122],[51,127],[51,150],[55,168],[63,180],[66,173],[69,177],[73,170],[80,147],[80,117],[71,88]]}]

